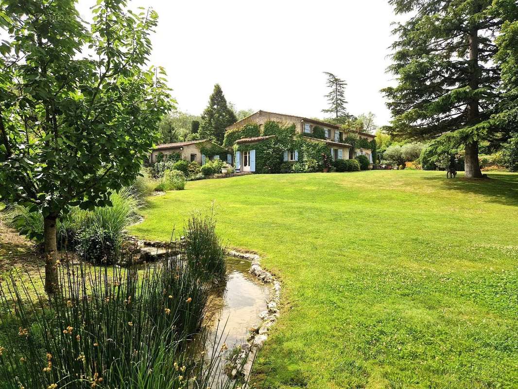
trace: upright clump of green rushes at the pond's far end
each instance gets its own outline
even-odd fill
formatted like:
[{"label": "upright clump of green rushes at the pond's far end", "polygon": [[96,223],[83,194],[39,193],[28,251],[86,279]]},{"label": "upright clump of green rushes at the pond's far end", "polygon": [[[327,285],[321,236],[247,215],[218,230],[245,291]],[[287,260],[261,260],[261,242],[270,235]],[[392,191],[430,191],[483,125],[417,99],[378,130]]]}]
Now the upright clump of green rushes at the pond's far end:
[{"label": "upright clump of green rushes at the pond's far end", "polygon": [[193,214],[184,228],[183,251],[191,270],[206,281],[221,282],[225,278],[225,249],[215,232],[212,215]]}]

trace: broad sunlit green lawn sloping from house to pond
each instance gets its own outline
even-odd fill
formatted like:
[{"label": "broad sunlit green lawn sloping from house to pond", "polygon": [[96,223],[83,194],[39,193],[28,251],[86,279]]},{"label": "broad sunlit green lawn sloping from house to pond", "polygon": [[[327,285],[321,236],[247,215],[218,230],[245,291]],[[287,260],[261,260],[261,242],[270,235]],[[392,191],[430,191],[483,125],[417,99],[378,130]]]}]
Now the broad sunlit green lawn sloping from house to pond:
[{"label": "broad sunlit green lawn sloping from house to pond", "polygon": [[255,367],[271,388],[518,387],[518,174],[490,177],[202,180],[151,198],[132,232],[168,240],[215,201],[225,242],[283,283]]}]

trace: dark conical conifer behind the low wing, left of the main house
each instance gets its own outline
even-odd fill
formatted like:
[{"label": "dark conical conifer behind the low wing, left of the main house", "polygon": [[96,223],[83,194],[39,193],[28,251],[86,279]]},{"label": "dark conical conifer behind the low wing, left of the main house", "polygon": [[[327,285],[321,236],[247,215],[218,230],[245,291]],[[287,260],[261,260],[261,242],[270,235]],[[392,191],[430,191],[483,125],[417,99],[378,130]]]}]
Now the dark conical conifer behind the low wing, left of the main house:
[{"label": "dark conical conifer behind the low wing, left of the main house", "polygon": [[202,114],[202,124],[199,127],[200,138],[210,138],[222,144],[225,137],[225,128],[236,121],[236,115],[228,107],[221,87],[219,84],[214,85],[209,104]]}]

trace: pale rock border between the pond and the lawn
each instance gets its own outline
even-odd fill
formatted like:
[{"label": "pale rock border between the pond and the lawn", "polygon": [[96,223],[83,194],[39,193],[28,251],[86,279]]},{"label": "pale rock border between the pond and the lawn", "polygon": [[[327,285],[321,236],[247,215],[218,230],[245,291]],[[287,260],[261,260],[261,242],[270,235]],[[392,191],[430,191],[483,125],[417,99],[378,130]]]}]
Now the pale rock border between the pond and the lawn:
[{"label": "pale rock border between the pond and the lawn", "polygon": [[242,368],[240,371],[234,368],[230,374],[231,378],[236,378],[238,374],[241,374],[248,382],[256,353],[263,348],[264,343],[268,339],[270,328],[277,322],[280,316],[279,303],[281,301],[281,283],[274,275],[261,267],[261,257],[259,255],[239,252],[236,249],[227,249],[226,255],[250,260],[252,266],[248,272],[254,275],[259,281],[265,284],[272,284],[274,292],[266,301],[266,310],[259,314],[261,324],[250,331],[247,341],[240,344],[241,350],[233,360],[235,366],[242,366]]}]

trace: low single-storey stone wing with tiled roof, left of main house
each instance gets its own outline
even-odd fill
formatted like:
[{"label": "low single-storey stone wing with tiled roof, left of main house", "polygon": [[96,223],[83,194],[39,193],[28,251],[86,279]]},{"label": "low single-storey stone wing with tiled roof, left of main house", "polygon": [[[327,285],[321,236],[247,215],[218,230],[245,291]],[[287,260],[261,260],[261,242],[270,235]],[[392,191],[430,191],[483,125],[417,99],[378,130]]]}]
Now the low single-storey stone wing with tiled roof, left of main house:
[{"label": "low single-storey stone wing with tiled roof, left of main house", "polygon": [[209,139],[200,139],[196,141],[176,142],[176,143],[164,143],[156,145],[149,156],[149,163],[155,163],[161,159],[167,160],[168,155],[178,153],[181,159],[188,162],[196,161],[200,165],[205,164],[207,160],[214,158],[225,158],[229,164],[232,164],[232,153],[224,151],[222,155],[205,155],[202,154],[203,149],[221,149],[221,146],[215,144]]}]

